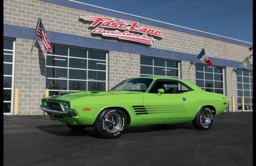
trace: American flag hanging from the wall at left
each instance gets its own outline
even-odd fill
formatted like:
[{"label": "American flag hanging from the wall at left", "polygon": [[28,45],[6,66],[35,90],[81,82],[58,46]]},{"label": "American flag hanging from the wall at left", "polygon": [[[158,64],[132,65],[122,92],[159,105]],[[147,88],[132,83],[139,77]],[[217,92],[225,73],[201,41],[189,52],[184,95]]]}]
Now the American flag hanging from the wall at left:
[{"label": "American flag hanging from the wall at left", "polygon": [[51,44],[47,37],[46,31],[44,29],[44,25],[41,19],[39,19],[39,24],[37,26],[36,35],[43,39],[44,41],[44,48],[46,51],[49,51],[52,53]]}]

